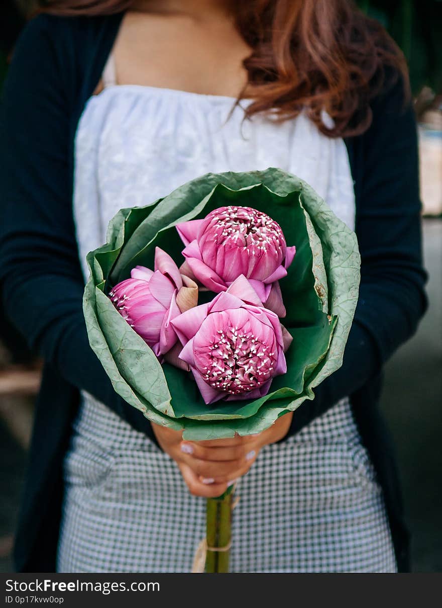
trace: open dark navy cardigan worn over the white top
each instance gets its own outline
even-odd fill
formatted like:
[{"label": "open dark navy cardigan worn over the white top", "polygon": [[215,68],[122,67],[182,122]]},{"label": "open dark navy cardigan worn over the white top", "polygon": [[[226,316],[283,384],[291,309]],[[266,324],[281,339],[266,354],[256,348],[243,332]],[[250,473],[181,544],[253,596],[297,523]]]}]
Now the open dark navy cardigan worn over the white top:
[{"label": "open dark navy cardigan worn over the white top", "polygon": [[[87,390],[137,430],[150,423],[112,389],[89,347],[84,282],[72,214],[73,142],[100,80],[121,15],[39,16],[16,47],[0,109],[0,280],[7,315],[46,367],[36,406],[29,473],[16,536],[19,571],[53,572],[61,514],[61,467]],[[384,362],[426,308],[421,260],[415,117],[401,83],[373,100],[373,123],[348,140],[355,181],[362,280],[344,364],[293,416],[298,432],[339,398],[353,413],[384,489],[400,570],[407,533],[390,441],[376,402]]]}]

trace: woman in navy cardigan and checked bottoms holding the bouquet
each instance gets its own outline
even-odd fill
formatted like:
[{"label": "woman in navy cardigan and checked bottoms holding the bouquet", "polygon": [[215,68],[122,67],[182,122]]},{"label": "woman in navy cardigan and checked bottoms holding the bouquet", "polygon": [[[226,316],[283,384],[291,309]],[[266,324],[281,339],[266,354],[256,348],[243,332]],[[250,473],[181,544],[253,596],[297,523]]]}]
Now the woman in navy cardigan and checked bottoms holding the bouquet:
[{"label": "woman in navy cardigan and checked bottoms holding the bouquet", "polygon": [[[400,51],[347,0],[44,7],[52,14],[22,35],[1,110],[4,305],[46,359],[18,569],[188,572],[201,497],[240,478],[231,570],[406,570],[376,409],[381,368],[425,308]],[[120,207],[208,171],[271,165],[310,182],[358,234],[344,364],[262,434],[182,441],[125,404],[90,350],[84,258]]]}]

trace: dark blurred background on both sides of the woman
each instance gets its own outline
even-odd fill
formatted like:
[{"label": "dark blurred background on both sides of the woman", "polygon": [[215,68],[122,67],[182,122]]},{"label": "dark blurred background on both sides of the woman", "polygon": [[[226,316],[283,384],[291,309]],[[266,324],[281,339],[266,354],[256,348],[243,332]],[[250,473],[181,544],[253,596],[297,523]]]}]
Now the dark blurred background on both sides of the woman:
[{"label": "dark blurred background on both sides of the woman", "polygon": [[[381,407],[396,443],[415,572],[442,572],[442,0],[359,0],[403,49],[419,121],[429,311],[386,366]],[[1,0],[0,89],[32,0]],[[0,572],[13,533],[41,362],[0,309]]]}]

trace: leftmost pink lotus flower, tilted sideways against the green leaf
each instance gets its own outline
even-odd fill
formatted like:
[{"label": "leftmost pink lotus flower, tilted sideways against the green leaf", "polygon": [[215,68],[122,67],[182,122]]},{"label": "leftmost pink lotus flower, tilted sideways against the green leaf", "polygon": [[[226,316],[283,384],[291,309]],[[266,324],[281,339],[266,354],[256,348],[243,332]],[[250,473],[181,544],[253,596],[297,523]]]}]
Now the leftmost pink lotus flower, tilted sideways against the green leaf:
[{"label": "leftmost pink lotus flower, tilted sideways against the green leaf", "polygon": [[170,255],[159,247],[155,249],[154,268],[152,271],[135,266],[131,278],[115,285],[109,297],[121,316],[161,359],[177,344],[171,320],[197,305],[198,287],[180,274]]}]

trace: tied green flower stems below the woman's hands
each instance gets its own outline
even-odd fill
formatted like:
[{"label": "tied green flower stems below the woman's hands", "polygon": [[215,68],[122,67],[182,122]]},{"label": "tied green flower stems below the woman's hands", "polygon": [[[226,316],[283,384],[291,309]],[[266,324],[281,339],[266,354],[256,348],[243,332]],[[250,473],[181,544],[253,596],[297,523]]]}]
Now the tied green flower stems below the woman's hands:
[{"label": "tied green flower stems below the woman's hands", "polygon": [[[218,498],[207,499],[207,547],[228,547],[231,540],[232,492],[230,489]],[[207,550],[207,573],[229,572],[230,551]]]}]

